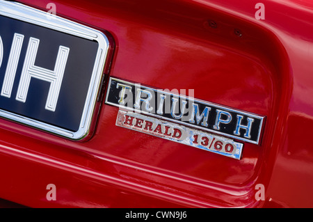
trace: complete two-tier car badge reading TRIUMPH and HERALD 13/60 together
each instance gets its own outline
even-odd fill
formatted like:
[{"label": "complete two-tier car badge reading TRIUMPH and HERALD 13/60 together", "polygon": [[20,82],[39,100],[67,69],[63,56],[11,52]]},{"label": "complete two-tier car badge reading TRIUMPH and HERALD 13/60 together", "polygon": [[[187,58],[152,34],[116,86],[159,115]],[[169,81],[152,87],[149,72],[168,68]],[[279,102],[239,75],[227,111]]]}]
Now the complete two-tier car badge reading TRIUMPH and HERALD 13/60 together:
[{"label": "complete two-tier car badge reading TRIUMPH and HERALD 13/60 together", "polygon": [[243,143],[231,138],[259,144],[264,127],[263,116],[113,77],[106,104],[120,107],[116,121],[120,127],[234,159],[240,159]]}]

